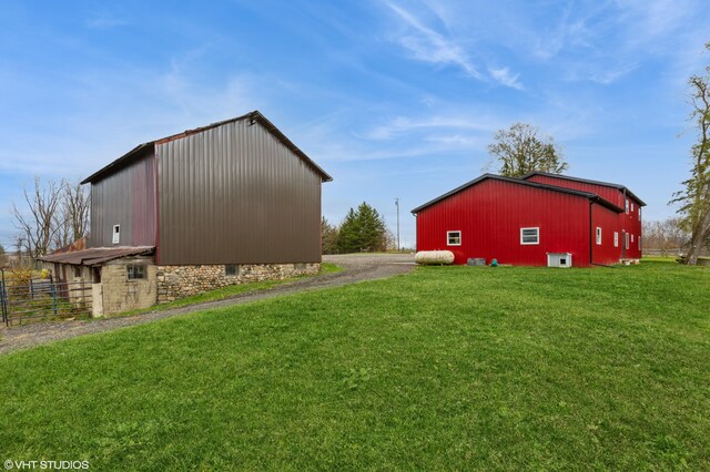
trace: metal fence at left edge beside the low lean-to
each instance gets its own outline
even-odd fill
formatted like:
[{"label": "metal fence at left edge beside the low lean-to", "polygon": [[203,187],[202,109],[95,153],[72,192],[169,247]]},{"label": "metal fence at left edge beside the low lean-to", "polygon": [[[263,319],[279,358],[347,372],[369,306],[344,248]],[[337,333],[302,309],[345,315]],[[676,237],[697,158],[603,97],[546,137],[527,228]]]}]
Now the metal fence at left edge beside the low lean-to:
[{"label": "metal fence at left edge beside the low lean-to", "polygon": [[0,307],[6,326],[37,319],[91,315],[91,284],[49,278],[7,279],[2,270]]}]

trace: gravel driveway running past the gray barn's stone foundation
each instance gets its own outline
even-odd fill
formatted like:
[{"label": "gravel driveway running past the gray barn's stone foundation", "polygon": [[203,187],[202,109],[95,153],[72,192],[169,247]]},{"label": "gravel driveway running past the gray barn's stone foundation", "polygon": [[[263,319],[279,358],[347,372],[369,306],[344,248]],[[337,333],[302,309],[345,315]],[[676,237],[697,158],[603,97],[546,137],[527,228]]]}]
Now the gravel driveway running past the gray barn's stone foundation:
[{"label": "gravel driveway running past the gray barn's stone foundation", "polygon": [[58,322],[38,322],[34,325],[16,326],[0,329],[0,355],[18,349],[44,345],[60,339],[74,338],[77,336],[104,332],[126,326],[143,325],[156,319],[171,318],[194,311],[203,311],[213,308],[241,305],[266,298],[281,297],[308,290],[339,287],[363,280],[392,277],[406,274],[414,268],[414,255],[408,254],[377,254],[377,255],[343,255],[324,256],[326,263],[337,264],[343,271],[326,274],[296,280],[292,284],[274,287],[270,290],[242,294],[233,298],[203,304],[190,305],[162,311],[149,311],[123,318],[95,319],[91,321],[73,320]]}]

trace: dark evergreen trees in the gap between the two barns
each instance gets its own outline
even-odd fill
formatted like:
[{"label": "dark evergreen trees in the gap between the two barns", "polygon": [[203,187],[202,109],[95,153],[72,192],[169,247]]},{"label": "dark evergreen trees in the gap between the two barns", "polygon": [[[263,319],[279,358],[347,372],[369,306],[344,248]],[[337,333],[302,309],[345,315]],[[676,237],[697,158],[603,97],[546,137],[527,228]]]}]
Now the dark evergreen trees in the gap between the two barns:
[{"label": "dark evergreen trees in the gap between the two barns", "polygon": [[339,225],[321,223],[323,254],[376,253],[396,248],[382,214],[363,202],[351,208]]}]

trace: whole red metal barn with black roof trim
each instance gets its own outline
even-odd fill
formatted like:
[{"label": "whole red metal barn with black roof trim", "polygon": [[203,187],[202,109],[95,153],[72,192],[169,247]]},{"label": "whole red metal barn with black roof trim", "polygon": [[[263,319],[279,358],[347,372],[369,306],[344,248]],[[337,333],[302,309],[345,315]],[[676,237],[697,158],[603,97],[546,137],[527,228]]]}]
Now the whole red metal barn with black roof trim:
[{"label": "whole red metal barn with black roof trim", "polygon": [[412,213],[417,250],[450,250],[455,264],[495,258],[588,267],[640,258],[638,212],[643,205],[616,184],[544,173],[524,178],[485,174]]}]

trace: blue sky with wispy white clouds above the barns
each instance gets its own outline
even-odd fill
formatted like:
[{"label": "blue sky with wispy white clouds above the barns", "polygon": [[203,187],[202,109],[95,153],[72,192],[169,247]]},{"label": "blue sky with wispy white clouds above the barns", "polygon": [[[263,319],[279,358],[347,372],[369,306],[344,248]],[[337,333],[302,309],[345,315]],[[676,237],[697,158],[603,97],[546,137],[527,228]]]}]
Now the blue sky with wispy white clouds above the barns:
[{"label": "blue sky with wispy white clouds above the barns", "polygon": [[710,62],[702,0],[3,0],[0,244],[41,178],[260,110],[334,176],[323,213],[409,209],[481,174],[496,130],[561,144],[568,174],[667,205],[689,170],[687,79]]}]

